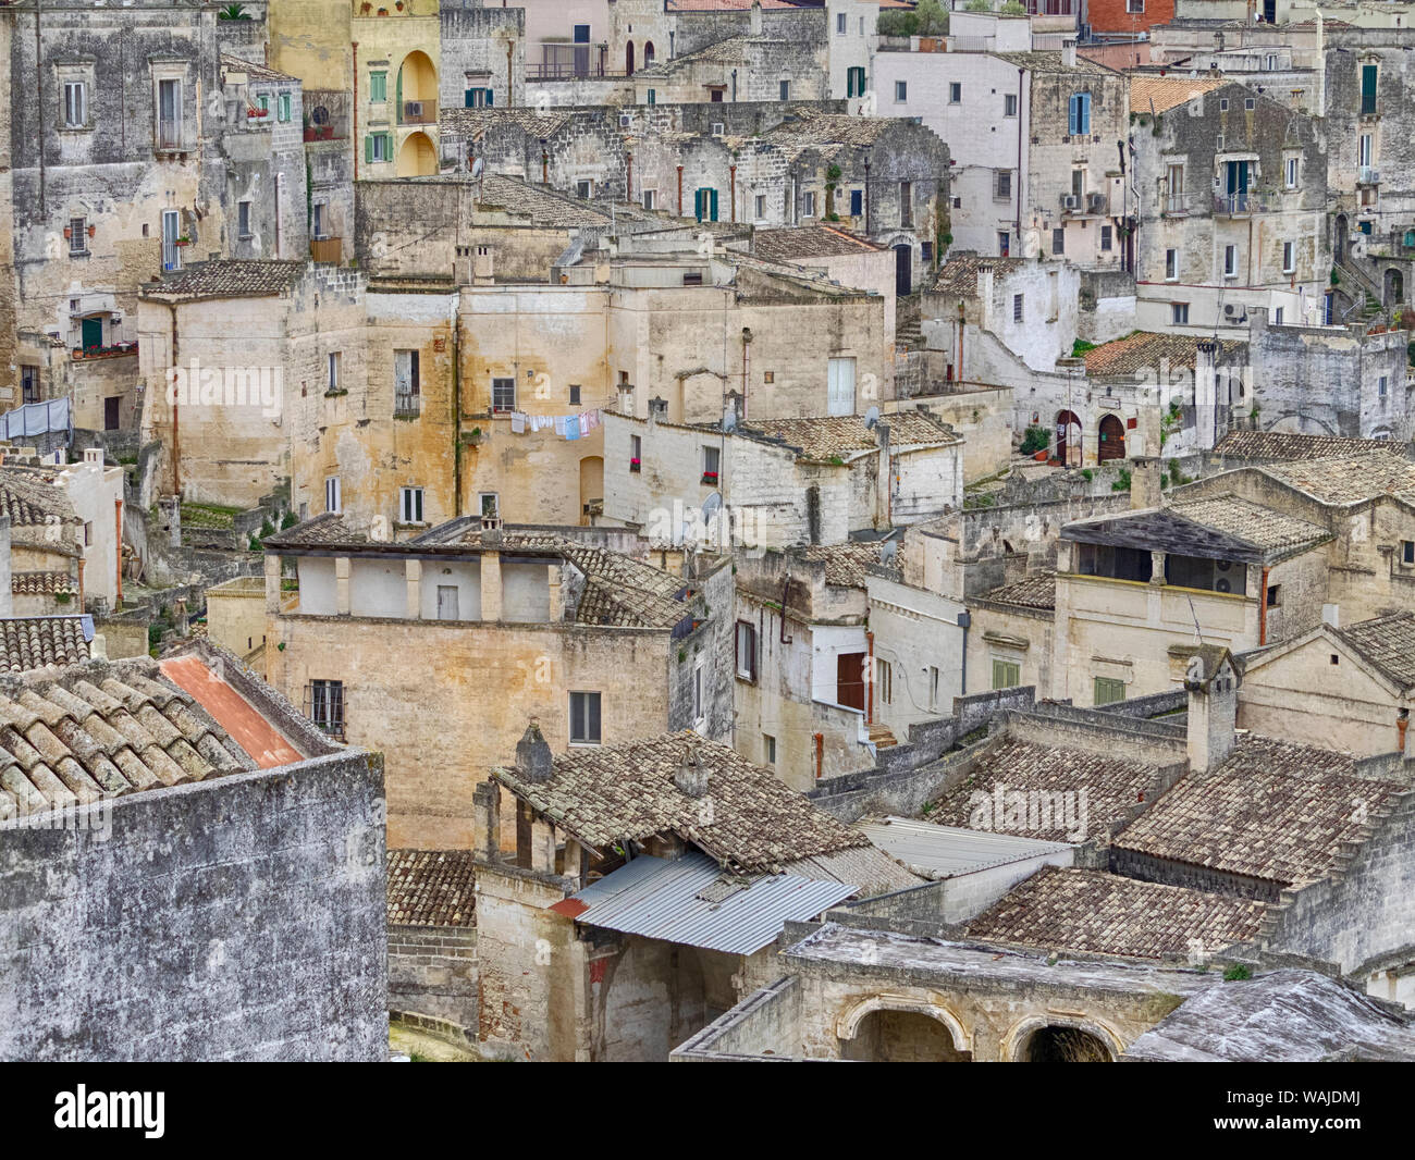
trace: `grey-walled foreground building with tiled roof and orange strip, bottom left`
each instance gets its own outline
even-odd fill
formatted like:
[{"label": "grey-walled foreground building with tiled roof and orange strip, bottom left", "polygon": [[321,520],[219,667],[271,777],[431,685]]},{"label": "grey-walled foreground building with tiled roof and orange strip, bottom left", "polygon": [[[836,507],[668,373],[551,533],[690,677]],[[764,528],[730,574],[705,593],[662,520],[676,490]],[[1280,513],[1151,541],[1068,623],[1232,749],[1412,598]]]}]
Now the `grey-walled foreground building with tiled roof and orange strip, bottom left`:
[{"label": "grey-walled foreground building with tiled roof and orange strip, bottom left", "polygon": [[16,733],[0,788],[0,1057],[388,1058],[376,755],[205,646],[0,700],[44,747]]}]

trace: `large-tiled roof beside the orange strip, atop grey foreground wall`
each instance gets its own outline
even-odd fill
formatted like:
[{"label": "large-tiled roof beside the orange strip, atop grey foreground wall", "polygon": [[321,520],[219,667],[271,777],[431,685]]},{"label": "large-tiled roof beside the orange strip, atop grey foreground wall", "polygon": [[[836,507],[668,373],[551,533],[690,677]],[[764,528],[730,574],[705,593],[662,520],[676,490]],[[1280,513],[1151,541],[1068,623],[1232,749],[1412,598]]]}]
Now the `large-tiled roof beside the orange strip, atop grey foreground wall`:
[{"label": "large-tiled roof beside the orange strip, atop grey foreground wall", "polygon": [[149,658],[0,680],[0,819],[255,768]]}]

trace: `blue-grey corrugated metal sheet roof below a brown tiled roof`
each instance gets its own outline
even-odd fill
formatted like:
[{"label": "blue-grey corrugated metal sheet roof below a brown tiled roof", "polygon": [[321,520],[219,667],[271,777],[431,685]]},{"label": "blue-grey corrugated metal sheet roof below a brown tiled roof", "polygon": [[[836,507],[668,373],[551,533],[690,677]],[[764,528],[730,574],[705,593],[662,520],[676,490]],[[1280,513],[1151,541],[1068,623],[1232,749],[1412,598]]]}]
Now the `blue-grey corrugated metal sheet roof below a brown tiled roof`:
[{"label": "blue-grey corrugated metal sheet roof below a brown tiled roof", "polygon": [[750,955],[785,922],[815,918],[855,893],[849,883],[761,874],[720,898],[722,877],[717,863],[698,852],[676,862],[644,854],[552,910],[610,931]]}]

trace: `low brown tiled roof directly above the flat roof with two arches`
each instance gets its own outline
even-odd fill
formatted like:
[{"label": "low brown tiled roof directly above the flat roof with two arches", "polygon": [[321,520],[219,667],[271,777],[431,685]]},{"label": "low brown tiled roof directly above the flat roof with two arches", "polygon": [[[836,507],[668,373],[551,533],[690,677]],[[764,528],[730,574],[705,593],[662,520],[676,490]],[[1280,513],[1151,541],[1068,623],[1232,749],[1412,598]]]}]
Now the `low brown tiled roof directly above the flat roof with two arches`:
[{"label": "low brown tiled roof directly above the flat roof with two arches", "polygon": [[968,924],[968,938],[1128,959],[1217,953],[1257,932],[1266,904],[1099,870],[1044,867]]}]

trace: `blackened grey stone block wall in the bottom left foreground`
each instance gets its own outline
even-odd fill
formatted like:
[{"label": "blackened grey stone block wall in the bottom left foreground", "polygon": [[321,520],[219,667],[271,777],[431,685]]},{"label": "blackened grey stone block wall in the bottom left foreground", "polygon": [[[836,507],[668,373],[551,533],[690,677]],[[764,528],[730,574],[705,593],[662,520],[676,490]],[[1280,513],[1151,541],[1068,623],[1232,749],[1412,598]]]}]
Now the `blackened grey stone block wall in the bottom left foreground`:
[{"label": "blackened grey stone block wall in the bottom left foreground", "polygon": [[388,1058],[382,808],[340,753],[0,825],[0,1058]]}]

